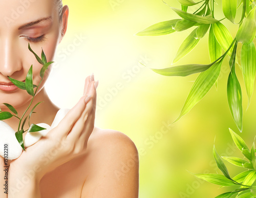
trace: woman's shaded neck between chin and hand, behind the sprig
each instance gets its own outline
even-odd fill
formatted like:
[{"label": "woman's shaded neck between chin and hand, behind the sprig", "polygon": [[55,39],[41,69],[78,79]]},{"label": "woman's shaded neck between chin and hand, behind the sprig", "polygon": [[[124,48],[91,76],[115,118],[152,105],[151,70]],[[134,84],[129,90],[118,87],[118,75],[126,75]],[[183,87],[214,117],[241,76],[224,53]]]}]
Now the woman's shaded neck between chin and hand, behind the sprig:
[{"label": "woman's shaded neck between chin and hand, behind the sprig", "polygon": [[[41,102],[41,101],[44,101],[44,102]],[[24,105],[16,108],[19,118],[22,117],[22,115],[28,108],[30,102],[31,102],[31,100],[28,101],[27,103],[25,103]],[[45,88],[42,88],[42,90],[38,94],[36,94],[30,108],[28,109],[27,113],[23,117],[23,120],[26,118],[27,115],[30,114],[31,109],[38,102],[41,102],[41,103],[38,106],[36,106],[36,108],[34,109],[34,112],[36,112],[36,114],[31,115],[30,124],[46,123],[51,126],[53,119],[54,119],[57,111],[59,110],[59,108],[51,102],[51,100],[49,99],[49,97],[45,91]],[[9,111],[9,109],[3,109],[2,111]],[[22,123],[23,123],[23,120],[22,120]],[[9,124],[9,126],[11,126],[13,128],[13,130],[17,131],[18,123],[19,123],[19,120],[17,118],[12,117],[12,118],[4,120],[4,121],[7,124]],[[22,123],[20,124],[19,129],[21,128]],[[28,124],[28,119],[27,119],[26,124],[24,125],[24,129],[27,130],[28,128],[29,128],[29,124]]]}]

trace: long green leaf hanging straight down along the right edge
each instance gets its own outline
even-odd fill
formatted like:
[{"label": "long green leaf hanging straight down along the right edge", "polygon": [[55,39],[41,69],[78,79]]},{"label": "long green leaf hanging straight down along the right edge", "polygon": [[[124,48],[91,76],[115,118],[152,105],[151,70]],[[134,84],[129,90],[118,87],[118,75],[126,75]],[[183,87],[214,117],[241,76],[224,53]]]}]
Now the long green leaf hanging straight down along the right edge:
[{"label": "long green leaf hanging straight down along the right edge", "polygon": [[253,93],[253,84],[256,74],[256,50],[253,42],[243,44],[241,49],[241,67],[248,96],[248,106]]}]

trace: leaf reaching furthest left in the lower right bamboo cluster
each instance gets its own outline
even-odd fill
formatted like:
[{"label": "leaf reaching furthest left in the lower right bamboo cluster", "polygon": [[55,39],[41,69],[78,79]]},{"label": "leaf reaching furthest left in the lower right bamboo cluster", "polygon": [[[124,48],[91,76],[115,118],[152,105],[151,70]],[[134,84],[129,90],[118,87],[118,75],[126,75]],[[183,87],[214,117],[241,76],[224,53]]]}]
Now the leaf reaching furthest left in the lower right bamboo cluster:
[{"label": "leaf reaching furthest left in the lower right bamboo cluster", "polygon": [[217,185],[221,185],[221,186],[237,185],[232,180],[227,179],[222,174],[205,174],[205,173],[191,173],[191,174],[195,175],[196,177],[198,177],[202,180],[210,182],[212,184],[217,184]]}]

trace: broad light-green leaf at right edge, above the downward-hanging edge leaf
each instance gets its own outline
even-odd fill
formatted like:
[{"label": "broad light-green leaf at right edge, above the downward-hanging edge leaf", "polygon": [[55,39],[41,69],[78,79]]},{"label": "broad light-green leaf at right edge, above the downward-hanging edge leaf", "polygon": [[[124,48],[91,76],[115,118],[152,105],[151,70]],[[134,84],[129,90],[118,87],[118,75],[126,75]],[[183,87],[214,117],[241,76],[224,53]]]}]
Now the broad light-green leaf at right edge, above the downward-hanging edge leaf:
[{"label": "broad light-green leaf at right edge, above the downward-hanging edge leaf", "polygon": [[247,17],[243,20],[242,25],[239,27],[237,32],[237,40],[239,42],[244,43],[250,43],[255,37],[256,34],[256,23],[254,19],[255,14],[255,8],[254,7]]}]

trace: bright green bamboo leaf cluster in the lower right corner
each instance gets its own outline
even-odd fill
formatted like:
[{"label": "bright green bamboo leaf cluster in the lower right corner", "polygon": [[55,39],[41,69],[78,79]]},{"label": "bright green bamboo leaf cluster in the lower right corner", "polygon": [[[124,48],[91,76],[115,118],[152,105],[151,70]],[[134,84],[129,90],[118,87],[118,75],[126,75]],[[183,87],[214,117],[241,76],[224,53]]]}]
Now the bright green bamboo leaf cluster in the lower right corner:
[{"label": "bright green bamboo leaf cluster in the lower right corner", "polygon": [[[213,154],[214,159],[217,163],[218,168],[222,171],[223,174],[204,174],[204,173],[191,173],[196,177],[203,179],[207,182],[217,184],[220,186],[240,186],[236,190],[222,193],[216,198],[228,198],[232,195],[237,194],[238,198],[242,197],[256,197],[256,186],[252,186],[253,183],[256,181],[256,158],[255,158],[255,146],[254,142],[251,146],[251,149],[246,145],[244,140],[233,130],[229,129],[230,134],[234,143],[237,145],[239,150],[243,153],[244,159],[237,158],[237,157],[220,157],[216,151],[214,146]],[[224,164],[223,160],[228,161],[229,163],[243,167],[246,171],[239,173],[238,175],[234,176],[233,178],[230,177],[230,174],[227,170],[226,165]]]}]

